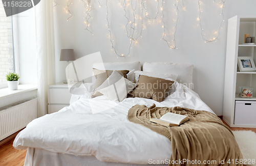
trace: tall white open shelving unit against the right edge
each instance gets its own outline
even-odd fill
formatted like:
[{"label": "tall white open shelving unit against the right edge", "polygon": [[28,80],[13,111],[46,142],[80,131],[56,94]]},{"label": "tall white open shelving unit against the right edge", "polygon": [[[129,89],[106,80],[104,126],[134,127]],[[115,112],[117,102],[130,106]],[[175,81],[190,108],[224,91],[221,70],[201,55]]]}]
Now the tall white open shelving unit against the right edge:
[{"label": "tall white open shelving unit against the right edge", "polygon": [[[249,34],[254,37],[256,36],[256,15],[234,16],[228,19],[223,120],[230,127],[256,128],[255,124],[234,123],[234,118],[236,116],[236,101],[256,101],[256,71],[240,72],[237,65],[238,57],[253,57],[254,62],[256,62],[256,45],[243,44],[245,34]],[[253,98],[238,97],[239,86],[253,87]],[[253,111],[255,112],[252,116],[255,115],[256,108]],[[241,118],[246,121],[246,116],[248,117],[250,115],[244,115]]]}]

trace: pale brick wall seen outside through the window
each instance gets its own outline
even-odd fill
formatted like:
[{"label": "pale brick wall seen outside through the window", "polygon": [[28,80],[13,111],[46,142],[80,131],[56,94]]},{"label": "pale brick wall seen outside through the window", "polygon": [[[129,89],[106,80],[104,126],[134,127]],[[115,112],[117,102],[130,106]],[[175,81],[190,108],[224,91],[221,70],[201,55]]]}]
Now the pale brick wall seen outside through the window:
[{"label": "pale brick wall seen outside through the window", "polygon": [[13,72],[12,20],[6,17],[3,3],[0,2],[0,83],[6,82],[5,75]]}]

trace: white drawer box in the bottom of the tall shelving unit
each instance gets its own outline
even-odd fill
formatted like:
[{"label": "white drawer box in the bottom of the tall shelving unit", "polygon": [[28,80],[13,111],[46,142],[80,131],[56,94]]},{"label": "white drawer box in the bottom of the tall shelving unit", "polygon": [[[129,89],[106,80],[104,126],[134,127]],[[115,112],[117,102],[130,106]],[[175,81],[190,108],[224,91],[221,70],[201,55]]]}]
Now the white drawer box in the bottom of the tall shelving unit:
[{"label": "white drawer box in the bottom of the tall shelving unit", "polygon": [[234,124],[256,125],[256,101],[236,101]]}]

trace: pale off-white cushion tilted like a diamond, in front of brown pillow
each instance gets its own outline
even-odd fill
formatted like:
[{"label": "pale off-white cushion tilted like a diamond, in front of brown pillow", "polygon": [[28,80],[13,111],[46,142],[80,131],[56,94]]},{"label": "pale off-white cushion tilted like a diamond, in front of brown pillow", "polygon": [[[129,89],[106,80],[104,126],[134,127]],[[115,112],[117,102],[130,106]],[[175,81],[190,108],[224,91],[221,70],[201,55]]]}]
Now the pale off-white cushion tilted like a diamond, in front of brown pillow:
[{"label": "pale off-white cushion tilted like a diamond, in front of brown pillow", "polygon": [[114,70],[109,78],[106,79],[95,91],[102,93],[112,101],[121,102],[135,87],[136,84],[124,78]]}]

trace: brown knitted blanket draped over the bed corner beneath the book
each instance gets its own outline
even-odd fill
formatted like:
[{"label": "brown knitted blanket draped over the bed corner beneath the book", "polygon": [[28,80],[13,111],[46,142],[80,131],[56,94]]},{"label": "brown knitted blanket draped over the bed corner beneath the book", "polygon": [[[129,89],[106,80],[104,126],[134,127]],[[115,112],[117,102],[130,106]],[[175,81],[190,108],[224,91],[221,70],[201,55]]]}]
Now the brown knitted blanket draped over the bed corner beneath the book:
[{"label": "brown knitted blanket draped over the bed corner beneath the book", "polygon": [[[168,112],[188,116],[189,121],[177,127],[149,121],[150,118],[159,119]],[[232,131],[212,113],[179,106],[156,107],[153,104],[150,107],[135,105],[127,117],[131,122],[150,128],[171,141],[173,153],[169,165],[209,165],[204,161],[211,160],[216,160],[216,164],[212,162],[214,164],[210,165],[243,165],[235,162],[243,157]],[[184,162],[179,162],[181,160]]]}]

